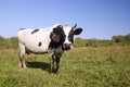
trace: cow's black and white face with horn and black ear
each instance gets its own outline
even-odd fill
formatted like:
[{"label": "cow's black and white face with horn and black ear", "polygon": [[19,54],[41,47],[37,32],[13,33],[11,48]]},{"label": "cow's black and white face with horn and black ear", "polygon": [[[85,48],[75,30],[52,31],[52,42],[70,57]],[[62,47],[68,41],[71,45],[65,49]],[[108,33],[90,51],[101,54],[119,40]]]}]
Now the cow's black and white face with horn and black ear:
[{"label": "cow's black and white face with horn and black ear", "polygon": [[74,26],[65,25],[63,26],[65,33],[64,49],[69,50],[73,48],[74,35],[79,35],[82,32],[82,28],[76,28],[77,24]]}]

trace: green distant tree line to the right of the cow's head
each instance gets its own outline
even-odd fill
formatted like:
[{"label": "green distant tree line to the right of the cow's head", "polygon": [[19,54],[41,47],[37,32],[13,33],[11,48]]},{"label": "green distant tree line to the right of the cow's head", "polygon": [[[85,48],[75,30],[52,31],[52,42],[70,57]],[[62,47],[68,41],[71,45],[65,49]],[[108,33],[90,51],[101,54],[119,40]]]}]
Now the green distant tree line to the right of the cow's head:
[{"label": "green distant tree line to the right of the cow's head", "polygon": [[75,47],[107,47],[112,45],[129,45],[130,44],[130,34],[125,36],[113,36],[112,39],[81,39],[80,37],[75,39]]}]

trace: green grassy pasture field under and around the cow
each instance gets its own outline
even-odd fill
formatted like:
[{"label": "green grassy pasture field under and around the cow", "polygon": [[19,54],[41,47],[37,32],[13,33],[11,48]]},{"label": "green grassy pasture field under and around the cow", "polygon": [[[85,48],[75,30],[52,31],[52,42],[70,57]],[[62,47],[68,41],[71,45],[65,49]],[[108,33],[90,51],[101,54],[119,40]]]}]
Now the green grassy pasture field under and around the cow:
[{"label": "green grassy pasture field under and around the cow", "polygon": [[26,57],[0,50],[0,87],[130,87],[130,46],[87,47],[65,51],[57,74],[49,74],[48,54]]}]

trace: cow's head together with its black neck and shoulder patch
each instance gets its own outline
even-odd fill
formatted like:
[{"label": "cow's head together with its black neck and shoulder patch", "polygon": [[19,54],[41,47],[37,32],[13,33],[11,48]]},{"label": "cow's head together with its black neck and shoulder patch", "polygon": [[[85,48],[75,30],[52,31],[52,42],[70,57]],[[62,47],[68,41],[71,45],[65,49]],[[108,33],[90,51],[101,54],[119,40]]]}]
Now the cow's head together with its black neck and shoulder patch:
[{"label": "cow's head together with its black neck and shoulder patch", "polygon": [[63,45],[64,50],[69,50],[73,48],[74,35],[79,35],[82,28],[76,28],[77,24],[74,26],[69,25],[57,25],[53,28],[50,38],[50,48],[57,48]]}]

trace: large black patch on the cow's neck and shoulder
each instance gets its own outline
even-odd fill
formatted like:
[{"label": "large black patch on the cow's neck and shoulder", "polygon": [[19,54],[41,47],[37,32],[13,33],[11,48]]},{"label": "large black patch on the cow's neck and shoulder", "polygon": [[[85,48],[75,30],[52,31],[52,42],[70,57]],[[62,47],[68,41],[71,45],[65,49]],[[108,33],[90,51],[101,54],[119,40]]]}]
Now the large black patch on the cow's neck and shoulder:
[{"label": "large black patch on the cow's neck and shoulder", "polygon": [[63,46],[63,42],[65,41],[65,33],[63,30],[63,26],[58,25],[57,27],[53,28],[51,35],[50,35],[51,41],[49,45],[49,48],[57,48],[58,46]]}]

